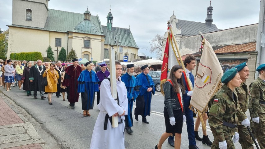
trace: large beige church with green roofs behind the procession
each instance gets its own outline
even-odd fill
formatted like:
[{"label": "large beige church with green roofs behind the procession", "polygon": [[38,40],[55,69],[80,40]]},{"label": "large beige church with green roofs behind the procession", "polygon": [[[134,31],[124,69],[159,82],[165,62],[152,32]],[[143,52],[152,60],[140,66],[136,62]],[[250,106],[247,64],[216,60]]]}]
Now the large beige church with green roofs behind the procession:
[{"label": "large beige church with green roofs behind the procession", "polygon": [[[113,27],[113,16],[107,14],[106,26],[99,16],[92,16],[88,9],[84,14],[48,8],[49,0],[13,0],[12,25],[9,27],[10,53],[45,52],[64,47],[67,53],[73,48],[78,58],[100,61],[109,58],[108,49],[114,46],[116,60],[137,59],[138,47],[130,29]],[[117,46],[118,45],[118,46]],[[57,59],[57,51],[54,58]]]}]

